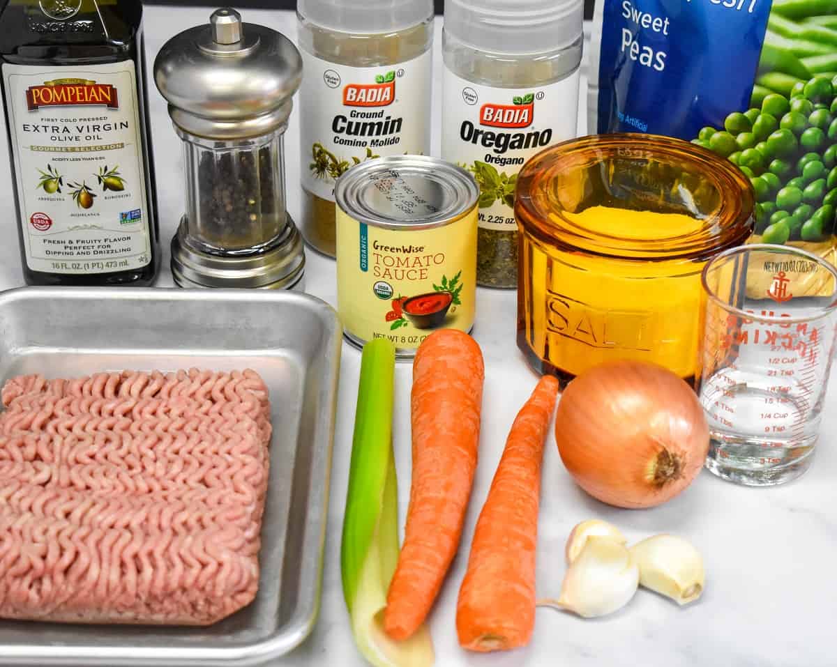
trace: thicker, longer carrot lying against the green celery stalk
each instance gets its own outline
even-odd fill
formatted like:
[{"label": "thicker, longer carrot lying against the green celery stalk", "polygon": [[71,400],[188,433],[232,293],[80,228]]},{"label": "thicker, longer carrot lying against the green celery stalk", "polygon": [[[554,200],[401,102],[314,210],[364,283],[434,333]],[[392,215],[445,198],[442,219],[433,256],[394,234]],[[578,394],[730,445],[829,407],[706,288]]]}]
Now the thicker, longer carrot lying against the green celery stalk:
[{"label": "thicker, longer carrot lying against the green celery stalk", "polygon": [[413,484],[383,627],[408,639],[433,606],[462,535],[476,469],[485,376],[480,346],[440,329],[413,361]]}]

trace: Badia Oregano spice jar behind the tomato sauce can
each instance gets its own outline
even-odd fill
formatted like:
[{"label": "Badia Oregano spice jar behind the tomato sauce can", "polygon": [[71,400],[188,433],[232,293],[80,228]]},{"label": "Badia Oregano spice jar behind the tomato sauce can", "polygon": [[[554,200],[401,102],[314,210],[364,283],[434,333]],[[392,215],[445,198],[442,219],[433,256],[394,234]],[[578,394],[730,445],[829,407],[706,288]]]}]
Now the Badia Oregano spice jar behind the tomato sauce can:
[{"label": "Badia Oregano spice jar behind the tomato sauce can", "polygon": [[480,185],[477,283],[516,288],[517,172],[576,135],[581,0],[446,0],[442,157]]}]

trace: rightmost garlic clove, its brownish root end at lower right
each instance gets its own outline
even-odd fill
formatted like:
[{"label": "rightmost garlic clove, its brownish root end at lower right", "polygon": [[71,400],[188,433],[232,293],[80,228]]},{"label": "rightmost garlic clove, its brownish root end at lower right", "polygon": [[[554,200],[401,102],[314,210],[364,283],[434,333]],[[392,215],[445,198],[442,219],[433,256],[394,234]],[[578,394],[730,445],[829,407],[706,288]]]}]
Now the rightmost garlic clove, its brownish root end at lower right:
[{"label": "rightmost garlic clove, its brownish root end at lower right", "polygon": [[679,604],[701,597],[703,558],[690,542],[674,535],[655,535],[630,548],[639,566],[639,584]]}]

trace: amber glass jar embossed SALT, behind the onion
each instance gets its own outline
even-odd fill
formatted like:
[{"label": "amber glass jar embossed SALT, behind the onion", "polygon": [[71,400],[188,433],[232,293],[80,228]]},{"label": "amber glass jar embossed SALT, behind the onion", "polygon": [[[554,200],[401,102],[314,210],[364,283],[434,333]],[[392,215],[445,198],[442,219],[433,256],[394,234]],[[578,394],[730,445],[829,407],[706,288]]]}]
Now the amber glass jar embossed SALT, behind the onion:
[{"label": "amber glass jar embossed SALT, behind the onion", "polygon": [[517,344],[567,381],[612,359],[691,381],[701,270],[752,233],[754,198],[728,160],[655,135],[552,146],[518,176]]}]

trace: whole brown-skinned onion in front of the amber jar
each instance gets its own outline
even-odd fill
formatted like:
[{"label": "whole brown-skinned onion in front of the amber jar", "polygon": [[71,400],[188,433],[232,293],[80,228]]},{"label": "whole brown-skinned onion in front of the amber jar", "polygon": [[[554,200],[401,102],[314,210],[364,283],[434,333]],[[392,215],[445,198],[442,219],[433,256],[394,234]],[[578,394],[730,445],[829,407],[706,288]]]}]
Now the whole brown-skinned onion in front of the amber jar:
[{"label": "whole brown-skinned onion in front of the amber jar", "polygon": [[616,507],[655,507],[691,484],[709,450],[695,392],[655,364],[618,361],[573,379],[555,439],[584,491]]}]

